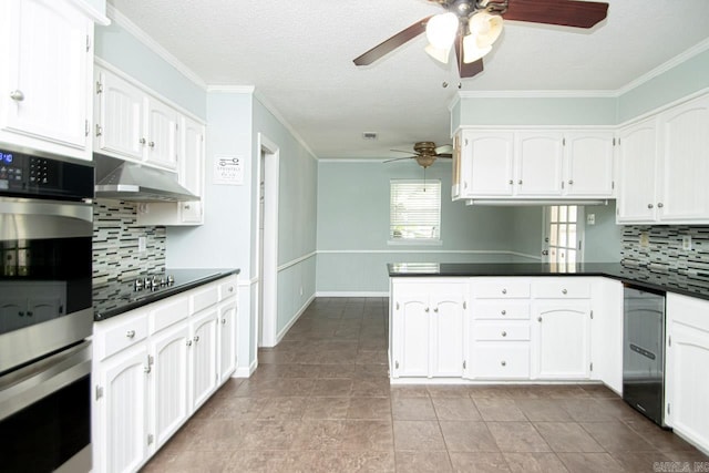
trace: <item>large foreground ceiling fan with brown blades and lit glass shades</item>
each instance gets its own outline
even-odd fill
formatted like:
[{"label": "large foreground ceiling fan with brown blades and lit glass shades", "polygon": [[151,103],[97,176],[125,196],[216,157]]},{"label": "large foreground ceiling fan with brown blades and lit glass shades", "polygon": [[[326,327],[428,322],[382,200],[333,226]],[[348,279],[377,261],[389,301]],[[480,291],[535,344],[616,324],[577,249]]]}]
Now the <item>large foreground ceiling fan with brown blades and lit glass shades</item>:
[{"label": "large foreground ceiling fan with brown blades and lit glass shades", "polygon": [[577,0],[428,0],[446,12],[423,18],[354,59],[369,65],[425,31],[425,51],[448,63],[455,49],[461,78],[483,71],[483,56],[492,50],[505,20],[593,28],[606,18],[608,3]]}]

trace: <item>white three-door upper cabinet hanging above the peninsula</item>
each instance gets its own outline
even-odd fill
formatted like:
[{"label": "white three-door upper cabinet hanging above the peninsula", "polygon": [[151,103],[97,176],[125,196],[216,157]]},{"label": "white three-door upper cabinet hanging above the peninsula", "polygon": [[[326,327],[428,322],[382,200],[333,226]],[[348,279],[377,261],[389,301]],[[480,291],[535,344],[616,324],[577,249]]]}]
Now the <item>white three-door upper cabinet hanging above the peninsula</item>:
[{"label": "white three-door upper cabinet hanging above the peninsula", "polygon": [[612,131],[463,128],[456,143],[453,199],[614,195]]}]

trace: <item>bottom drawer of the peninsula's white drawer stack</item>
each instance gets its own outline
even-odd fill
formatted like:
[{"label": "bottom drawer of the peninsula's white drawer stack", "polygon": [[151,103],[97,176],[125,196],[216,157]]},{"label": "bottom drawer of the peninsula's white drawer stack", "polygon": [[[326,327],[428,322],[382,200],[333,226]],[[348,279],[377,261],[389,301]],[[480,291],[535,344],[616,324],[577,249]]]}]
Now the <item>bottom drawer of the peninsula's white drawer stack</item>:
[{"label": "bottom drawer of the peninsula's white drawer stack", "polygon": [[473,378],[530,378],[530,343],[480,342],[472,352]]}]

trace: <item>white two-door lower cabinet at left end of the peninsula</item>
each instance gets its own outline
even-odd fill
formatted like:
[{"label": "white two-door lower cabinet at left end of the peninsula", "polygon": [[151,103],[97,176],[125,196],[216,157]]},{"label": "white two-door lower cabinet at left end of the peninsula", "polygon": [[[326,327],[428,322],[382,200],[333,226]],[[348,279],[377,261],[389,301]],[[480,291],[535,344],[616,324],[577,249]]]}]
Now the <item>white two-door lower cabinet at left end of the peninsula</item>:
[{"label": "white two-door lower cabinet at left end of the peninsula", "polygon": [[392,378],[463,374],[463,317],[467,285],[392,281]]}]

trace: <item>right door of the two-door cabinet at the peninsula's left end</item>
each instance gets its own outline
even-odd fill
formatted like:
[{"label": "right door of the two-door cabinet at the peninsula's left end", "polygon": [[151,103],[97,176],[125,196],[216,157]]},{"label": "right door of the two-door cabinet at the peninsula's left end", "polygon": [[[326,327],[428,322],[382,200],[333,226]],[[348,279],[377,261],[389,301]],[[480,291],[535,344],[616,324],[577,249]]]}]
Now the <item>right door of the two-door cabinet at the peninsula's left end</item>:
[{"label": "right door of the two-door cabinet at the peninsula's left end", "polygon": [[431,291],[431,376],[463,376],[465,286],[445,285]]}]

